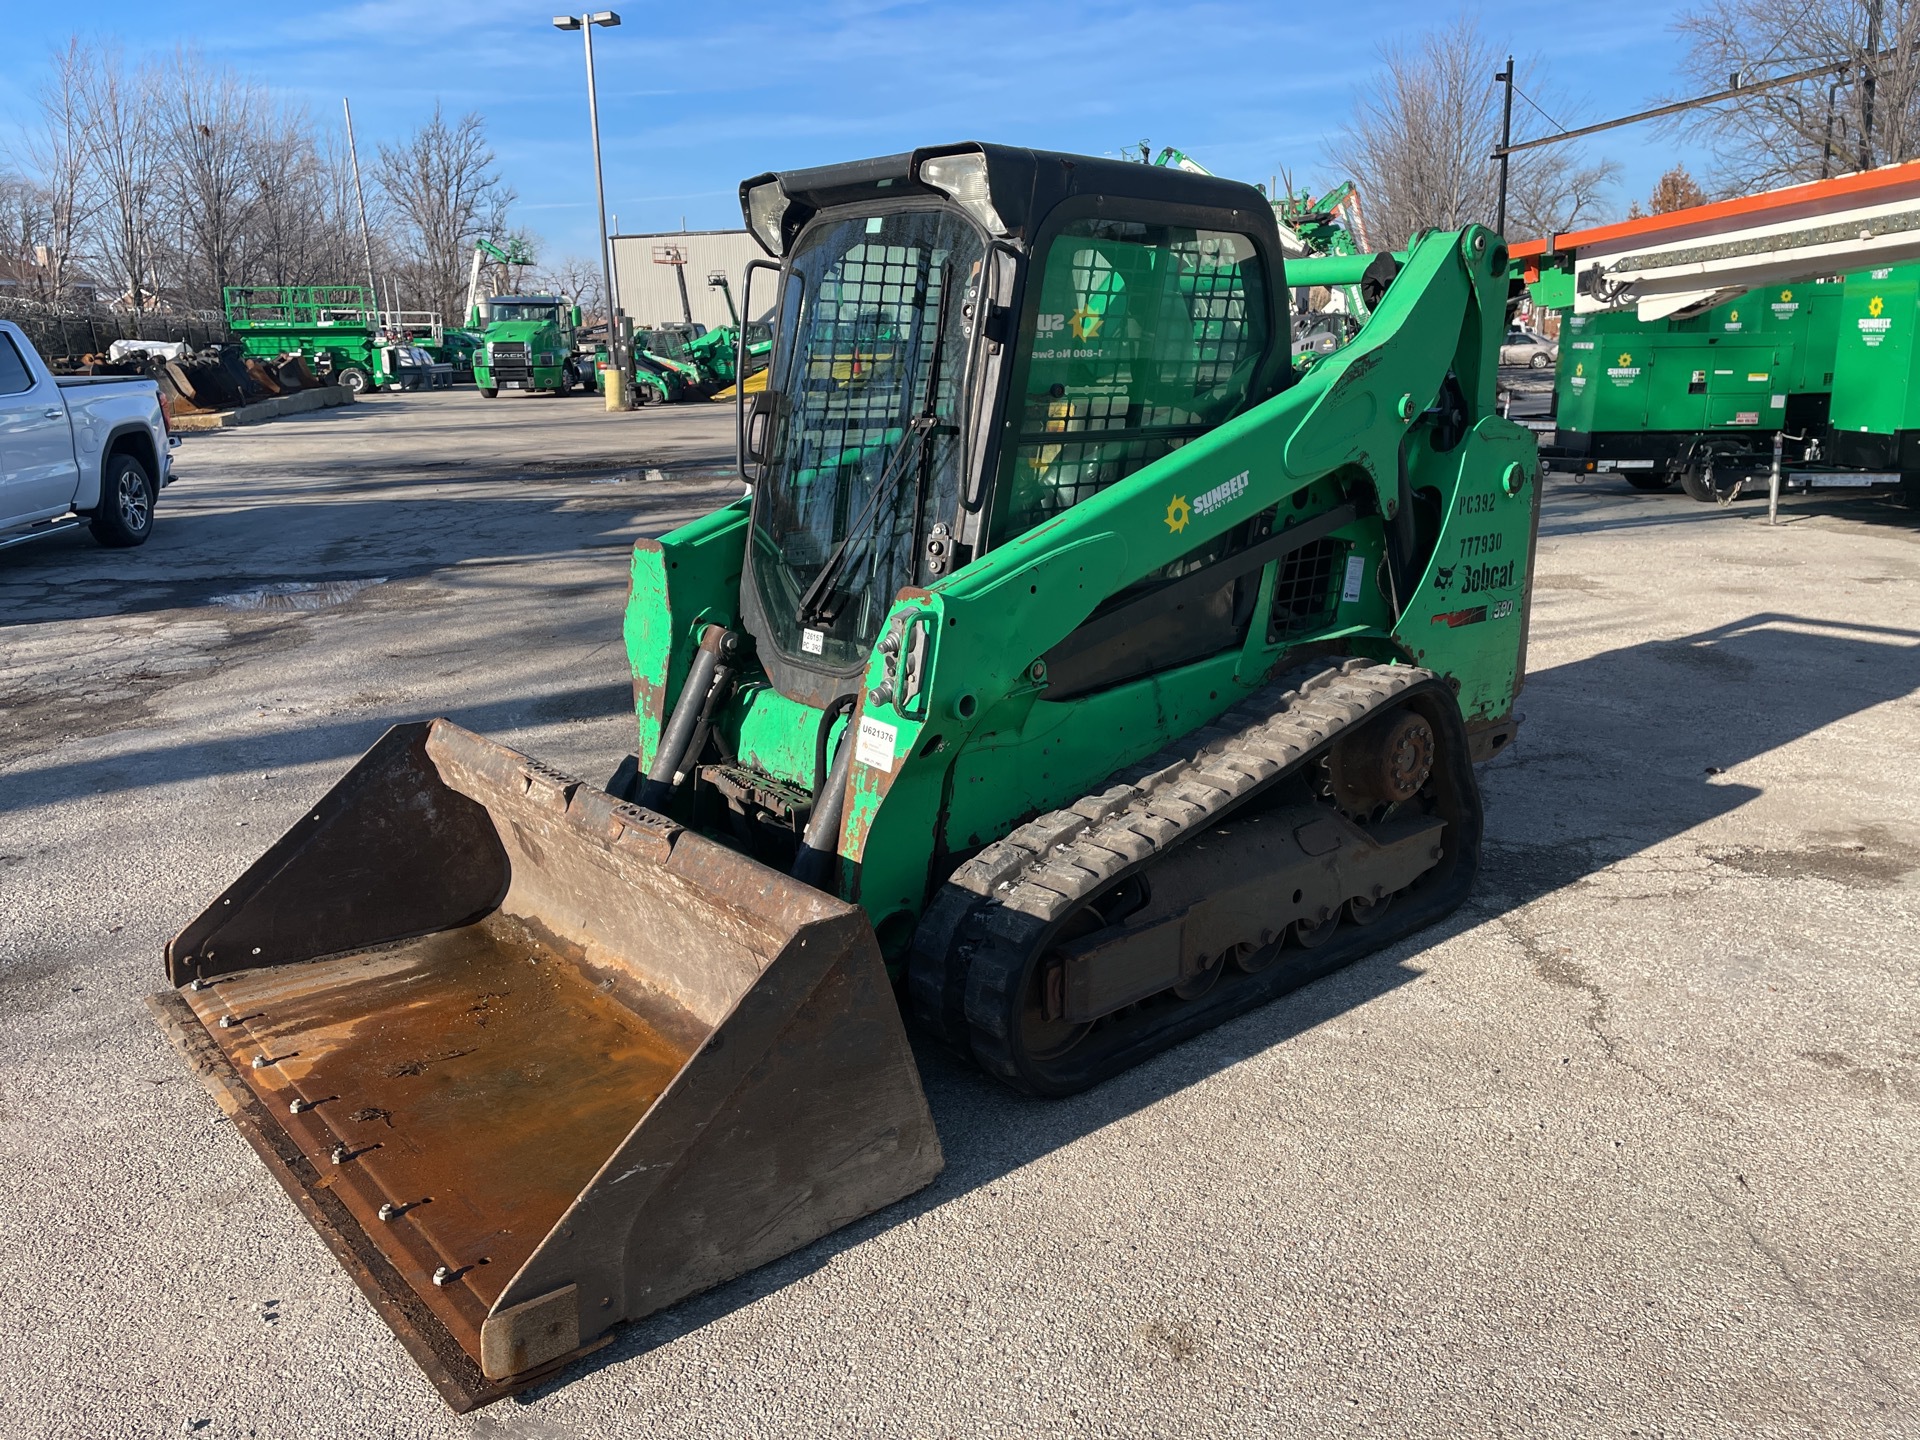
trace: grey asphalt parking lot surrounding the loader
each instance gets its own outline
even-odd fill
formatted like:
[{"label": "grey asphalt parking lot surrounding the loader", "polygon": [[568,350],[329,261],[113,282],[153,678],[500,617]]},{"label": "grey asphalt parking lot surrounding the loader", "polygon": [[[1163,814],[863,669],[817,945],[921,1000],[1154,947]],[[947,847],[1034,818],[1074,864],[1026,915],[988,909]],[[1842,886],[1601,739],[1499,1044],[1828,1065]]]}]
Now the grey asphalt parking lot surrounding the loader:
[{"label": "grey asphalt parking lot surrounding the loader", "polygon": [[397,720],[603,780],[730,415],[376,397],[0,553],[0,1434],[1920,1434],[1920,516],[1572,478],[1467,908],[1075,1100],[920,1046],[931,1188],[451,1415],[142,996]]}]

